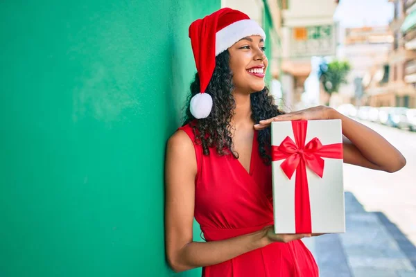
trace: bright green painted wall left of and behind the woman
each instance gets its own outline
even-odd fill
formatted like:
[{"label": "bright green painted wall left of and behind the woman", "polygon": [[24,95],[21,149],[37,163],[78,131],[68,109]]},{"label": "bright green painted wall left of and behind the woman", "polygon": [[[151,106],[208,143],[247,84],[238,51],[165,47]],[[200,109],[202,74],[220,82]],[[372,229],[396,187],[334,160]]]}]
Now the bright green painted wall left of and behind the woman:
[{"label": "bright green painted wall left of and behind the woman", "polygon": [[188,26],[219,7],[0,1],[0,276],[175,275],[164,150],[195,73]]}]

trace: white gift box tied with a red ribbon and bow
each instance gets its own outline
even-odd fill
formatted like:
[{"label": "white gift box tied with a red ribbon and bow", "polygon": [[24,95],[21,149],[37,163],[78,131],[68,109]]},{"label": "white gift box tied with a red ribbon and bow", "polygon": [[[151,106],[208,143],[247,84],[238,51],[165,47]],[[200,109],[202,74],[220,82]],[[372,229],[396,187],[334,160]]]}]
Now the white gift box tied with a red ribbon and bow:
[{"label": "white gift box tied with a red ribbon and bow", "polygon": [[271,125],[275,233],[345,233],[341,120]]}]

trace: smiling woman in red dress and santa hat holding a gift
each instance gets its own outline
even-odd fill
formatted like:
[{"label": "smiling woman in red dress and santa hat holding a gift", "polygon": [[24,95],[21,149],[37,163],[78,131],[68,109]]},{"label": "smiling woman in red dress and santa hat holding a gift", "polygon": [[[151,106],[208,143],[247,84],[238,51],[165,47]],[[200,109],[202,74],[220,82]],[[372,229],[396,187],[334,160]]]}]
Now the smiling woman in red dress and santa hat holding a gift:
[{"label": "smiling woman in red dress and santa hat holding a gift", "polygon": [[[395,172],[406,160],[379,134],[329,107],[282,114],[265,87],[266,35],[228,8],[191,24],[198,73],[184,126],[166,152],[166,256],[206,277],[318,276],[301,238],[272,228],[270,123],[339,118],[344,161]],[[193,217],[207,242],[193,242]]]}]

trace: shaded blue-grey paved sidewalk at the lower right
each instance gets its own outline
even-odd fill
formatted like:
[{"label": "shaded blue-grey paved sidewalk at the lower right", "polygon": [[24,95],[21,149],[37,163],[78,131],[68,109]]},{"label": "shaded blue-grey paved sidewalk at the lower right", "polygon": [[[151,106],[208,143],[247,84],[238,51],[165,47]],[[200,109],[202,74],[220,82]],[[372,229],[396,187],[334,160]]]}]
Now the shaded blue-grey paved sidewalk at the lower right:
[{"label": "shaded blue-grey paved sidewalk at the lower right", "polygon": [[347,232],[304,238],[320,277],[416,277],[416,247],[383,213],[345,193]]}]

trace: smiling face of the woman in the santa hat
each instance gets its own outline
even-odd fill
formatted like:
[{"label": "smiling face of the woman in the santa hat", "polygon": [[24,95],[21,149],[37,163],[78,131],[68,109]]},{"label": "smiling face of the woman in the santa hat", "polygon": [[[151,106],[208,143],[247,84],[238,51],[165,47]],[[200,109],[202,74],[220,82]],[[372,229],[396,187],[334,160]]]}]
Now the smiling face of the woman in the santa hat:
[{"label": "smiling face of the woman in the santa hat", "polygon": [[228,51],[234,87],[248,93],[261,91],[265,86],[264,75],[268,66],[263,38],[259,35],[244,37]]}]

